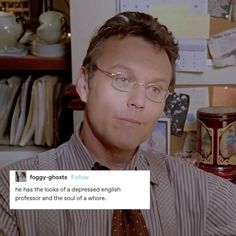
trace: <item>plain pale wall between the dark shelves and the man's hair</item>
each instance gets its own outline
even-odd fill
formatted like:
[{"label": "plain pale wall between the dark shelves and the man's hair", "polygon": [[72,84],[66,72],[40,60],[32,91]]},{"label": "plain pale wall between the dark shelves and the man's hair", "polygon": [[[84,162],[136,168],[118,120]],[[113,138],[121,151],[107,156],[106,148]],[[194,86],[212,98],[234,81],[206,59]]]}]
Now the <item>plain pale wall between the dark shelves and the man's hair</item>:
[{"label": "plain pale wall between the dark shelves and the man's hair", "polygon": [[[72,78],[76,82],[94,30],[116,13],[116,0],[70,0]],[[83,112],[74,112],[74,126]]]}]

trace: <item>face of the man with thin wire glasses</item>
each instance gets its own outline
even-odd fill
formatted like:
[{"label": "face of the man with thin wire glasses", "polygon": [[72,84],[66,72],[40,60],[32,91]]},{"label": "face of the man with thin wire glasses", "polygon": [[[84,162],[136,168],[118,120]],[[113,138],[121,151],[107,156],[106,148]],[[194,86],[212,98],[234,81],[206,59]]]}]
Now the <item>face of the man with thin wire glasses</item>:
[{"label": "face of the man with thin wire glasses", "polygon": [[[156,82],[165,89],[171,81],[166,52],[138,37],[110,38],[97,66],[112,73],[128,74],[140,83]],[[80,95],[82,91],[81,99],[87,103],[84,131],[106,148],[135,150],[151,133],[164,102],[150,101],[144,86],[130,92],[118,91],[112,86],[112,79],[99,70],[89,81],[87,77],[87,72],[81,73],[77,83],[77,91]]]}]

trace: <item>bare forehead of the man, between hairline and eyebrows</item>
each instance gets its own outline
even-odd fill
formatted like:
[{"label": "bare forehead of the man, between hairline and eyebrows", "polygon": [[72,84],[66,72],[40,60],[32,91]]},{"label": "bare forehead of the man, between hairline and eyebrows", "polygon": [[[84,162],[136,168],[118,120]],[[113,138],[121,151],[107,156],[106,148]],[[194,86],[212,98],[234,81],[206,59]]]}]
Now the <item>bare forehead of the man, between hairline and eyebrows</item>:
[{"label": "bare forehead of the man, between hairline and eyebrows", "polygon": [[171,80],[172,67],[167,53],[140,37],[109,38],[98,58],[105,69],[128,68],[138,75],[157,76]]}]

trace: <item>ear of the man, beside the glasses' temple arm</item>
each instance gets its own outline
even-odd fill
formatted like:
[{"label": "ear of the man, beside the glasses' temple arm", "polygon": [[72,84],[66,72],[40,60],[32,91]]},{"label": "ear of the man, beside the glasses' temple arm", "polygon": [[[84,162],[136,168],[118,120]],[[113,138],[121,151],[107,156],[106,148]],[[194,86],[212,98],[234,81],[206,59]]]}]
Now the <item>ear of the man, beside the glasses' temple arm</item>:
[{"label": "ear of the man, beside the glasses' temple arm", "polygon": [[85,103],[88,99],[88,90],[88,73],[84,67],[81,67],[79,78],[76,82],[76,92],[79,94],[80,99]]}]

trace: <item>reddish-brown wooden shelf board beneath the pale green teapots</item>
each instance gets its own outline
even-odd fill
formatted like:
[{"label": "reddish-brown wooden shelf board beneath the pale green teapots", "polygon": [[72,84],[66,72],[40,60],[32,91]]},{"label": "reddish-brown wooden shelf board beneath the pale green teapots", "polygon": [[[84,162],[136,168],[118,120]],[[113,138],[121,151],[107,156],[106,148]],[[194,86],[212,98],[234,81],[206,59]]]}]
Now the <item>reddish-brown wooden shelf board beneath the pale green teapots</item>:
[{"label": "reddish-brown wooden shelf board beneath the pale green teapots", "polygon": [[0,57],[0,70],[65,71],[70,70],[71,62],[66,57]]}]

